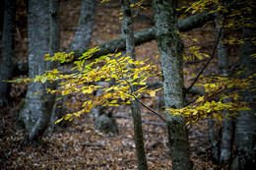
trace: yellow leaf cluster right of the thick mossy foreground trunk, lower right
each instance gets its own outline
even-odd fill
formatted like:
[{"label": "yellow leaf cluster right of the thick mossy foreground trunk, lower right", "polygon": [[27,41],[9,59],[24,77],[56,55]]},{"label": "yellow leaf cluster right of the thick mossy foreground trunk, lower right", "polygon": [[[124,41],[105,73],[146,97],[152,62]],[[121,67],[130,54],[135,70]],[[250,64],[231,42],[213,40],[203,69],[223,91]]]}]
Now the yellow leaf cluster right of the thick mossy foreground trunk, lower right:
[{"label": "yellow leaf cluster right of the thick mossy foreground trunk, lower right", "polygon": [[[250,110],[248,103],[242,101],[241,90],[256,90],[253,76],[245,79],[238,77],[206,77],[201,85],[206,94],[198,97],[193,104],[181,109],[166,109],[172,115],[182,115],[188,123],[194,123],[209,116],[222,121],[224,117],[236,116],[238,111]],[[228,100],[228,102],[226,102]],[[227,111],[228,114],[223,114]]]}]

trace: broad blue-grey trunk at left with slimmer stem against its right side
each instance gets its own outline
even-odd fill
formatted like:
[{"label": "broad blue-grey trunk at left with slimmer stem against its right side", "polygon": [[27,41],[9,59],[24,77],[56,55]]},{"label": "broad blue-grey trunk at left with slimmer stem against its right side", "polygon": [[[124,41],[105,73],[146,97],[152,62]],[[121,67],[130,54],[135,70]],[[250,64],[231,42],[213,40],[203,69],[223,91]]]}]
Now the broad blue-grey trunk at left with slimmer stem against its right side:
[{"label": "broad blue-grey trunk at left with slimmer stem against its right side", "polygon": [[[53,22],[57,14],[54,9],[56,4],[55,0],[29,0],[30,78],[57,67],[57,63],[44,61],[44,54],[49,52],[52,54],[53,50],[59,47],[59,44],[56,45],[58,42],[55,39],[56,32],[49,28],[50,23],[52,26],[56,24]],[[24,107],[18,116],[18,124],[30,131],[29,140],[32,142],[41,142],[41,137],[49,125],[55,96],[46,93],[45,89],[54,89],[54,87],[56,85],[50,83],[31,83],[29,85]]]}]

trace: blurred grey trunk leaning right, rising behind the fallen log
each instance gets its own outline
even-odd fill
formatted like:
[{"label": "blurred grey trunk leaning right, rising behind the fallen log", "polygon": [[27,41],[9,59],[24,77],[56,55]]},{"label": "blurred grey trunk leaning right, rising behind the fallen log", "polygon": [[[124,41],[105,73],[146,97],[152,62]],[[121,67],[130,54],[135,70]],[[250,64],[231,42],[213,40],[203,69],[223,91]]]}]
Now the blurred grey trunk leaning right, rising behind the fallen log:
[{"label": "blurred grey trunk leaning right, rising behind the fallen log", "polygon": [[85,49],[89,47],[96,16],[96,0],[83,0],[79,24],[71,45],[71,50]]}]

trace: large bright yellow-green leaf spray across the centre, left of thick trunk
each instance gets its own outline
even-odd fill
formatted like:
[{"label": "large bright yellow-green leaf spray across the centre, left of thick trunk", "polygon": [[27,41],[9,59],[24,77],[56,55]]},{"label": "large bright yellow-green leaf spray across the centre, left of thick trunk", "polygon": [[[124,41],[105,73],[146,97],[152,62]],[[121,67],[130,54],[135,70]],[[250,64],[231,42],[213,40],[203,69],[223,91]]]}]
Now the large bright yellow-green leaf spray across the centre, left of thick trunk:
[{"label": "large bright yellow-green leaf spray across the centre, left of thick trunk", "polygon": [[[33,82],[45,83],[46,81],[54,82],[61,81],[59,89],[47,89],[50,93],[61,93],[67,95],[70,93],[84,94],[87,99],[81,106],[82,109],[78,112],[67,114],[63,117],[65,120],[72,120],[75,116],[80,116],[83,113],[88,113],[93,107],[102,106],[119,106],[120,104],[130,104],[130,99],[140,97],[142,93],[149,93],[151,96],[156,96],[156,91],[147,89],[146,81],[149,77],[157,76],[158,69],[152,63],[147,63],[148,60],[134,61],[130,56],[121,56],[121,53],[115,55],[108,54],[101,56],[98,59],[88,63],[87,60],[92,57],[93,53],[98,48],[93,48],[84,53],[78,61],[75,61],[75,67],[78,72],[70,75],[63,75],[56,69],[47,71],[42,76],[36,76],[32,79]],[[69,62],[73,59],[73,53],[57,53],[53,57],[45,57],[46,60]],[[112,86],[95,85],[97,82],[108,84],[110,80],[115,80],[116,84]],[[141,86],[136,91],[132,90],[132,86]],[[94,93],[100,89],[102,92],[99,96]],[[118,102],[121,99],[121,102]],[[70,107],[70,105],[68,104]],[[75,106],[73,106],[75,107]],[[58,123],[58,120],[56,123]]]}]

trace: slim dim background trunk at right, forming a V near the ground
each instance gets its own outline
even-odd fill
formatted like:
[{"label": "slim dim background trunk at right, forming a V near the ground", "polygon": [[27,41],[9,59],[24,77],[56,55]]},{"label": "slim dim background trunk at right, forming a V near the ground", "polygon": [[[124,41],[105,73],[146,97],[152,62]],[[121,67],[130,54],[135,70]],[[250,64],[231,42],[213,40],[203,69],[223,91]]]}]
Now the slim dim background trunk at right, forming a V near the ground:
[{"label": "slim dim background trunk at right, forming a V near the ground", "polygon": [[[218,57],[219,57],[219,74],[221,76],[229,76],[228,68],[228,55],[227,47],[222,42],[225,38],[225,30],[220,23],[224,23],[224,15],[222,13],[216,14],[215,25],[216,25],[216,37],[219,42],[217,44]],[[224,99],[224,103],[229,102],[230,99]],[[224,115],[228,113],[228,110],[224,111]],[[233,118],[224,118],[223,120],[223,135],[221,147],[219,147],[218,141],[216,140],[216,132],[214,130],[214,123],[212,118],[208,119],[209,136],[210,142],[212,142],[212,152],[214,163],[223,164],[227,163],[231,156],[231,144],[233,140]]]}]

